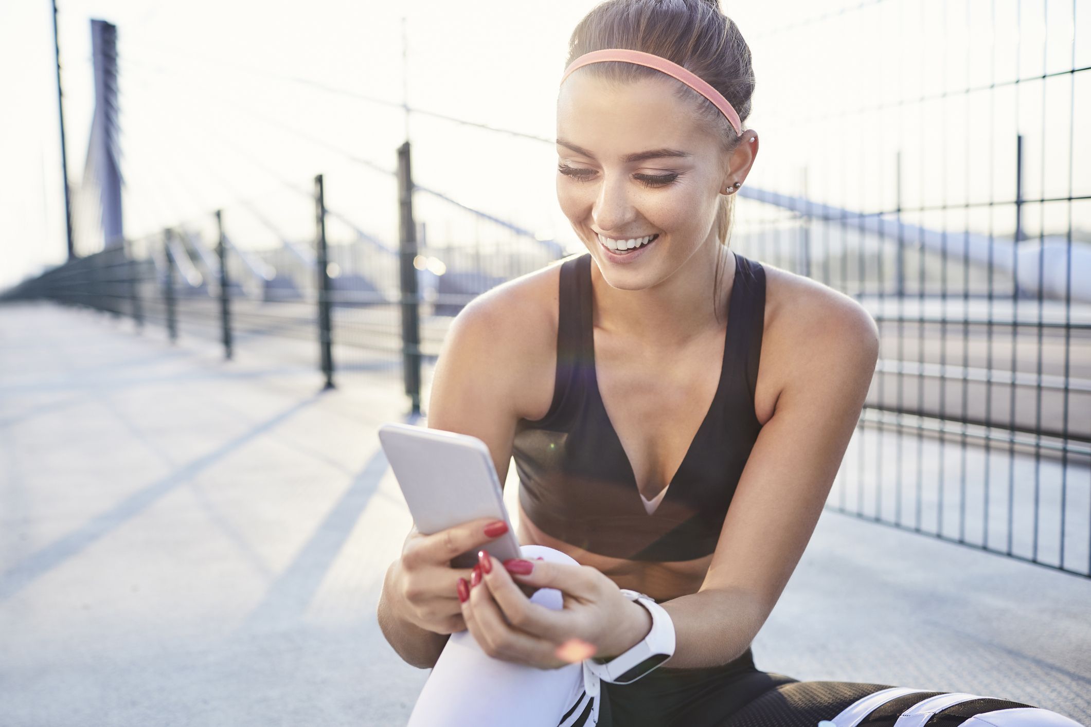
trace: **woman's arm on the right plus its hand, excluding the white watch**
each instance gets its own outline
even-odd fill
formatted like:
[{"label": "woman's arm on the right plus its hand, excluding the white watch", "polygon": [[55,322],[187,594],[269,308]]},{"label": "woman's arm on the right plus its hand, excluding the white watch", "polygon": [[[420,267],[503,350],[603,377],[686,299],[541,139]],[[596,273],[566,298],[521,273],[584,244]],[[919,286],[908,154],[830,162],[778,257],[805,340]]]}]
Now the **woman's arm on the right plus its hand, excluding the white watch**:
[{"label": "woman's arm on the right plus its hand, excluding the white watch", "polygon": [[[751,449],[705,581],[696,593],[662,604],[674,623],[667,662],[673,668],[719,666],[746,651],[795,570],[837,476],[875,373],[878,329],[852,299],[823,299],[778,336],[793,347],[777,352],[790,375]],[[582,645],[620,654],[651,628],[648,613],[590,566],[536,564],[535,572],[514,579],[562,589],[565,608],[531,604],[503,567],[491,569],[488,587],[472,590],[463,614],[492,656],[556,668],[589,655],[579,653]],[[572,649],[558,651],[561,644]]]}]

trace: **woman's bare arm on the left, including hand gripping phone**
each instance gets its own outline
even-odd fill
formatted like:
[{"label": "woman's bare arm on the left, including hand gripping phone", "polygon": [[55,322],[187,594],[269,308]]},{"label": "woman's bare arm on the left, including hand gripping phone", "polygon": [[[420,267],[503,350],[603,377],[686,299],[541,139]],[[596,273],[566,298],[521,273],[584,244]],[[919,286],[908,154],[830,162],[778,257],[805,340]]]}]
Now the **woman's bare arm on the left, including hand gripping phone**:
[{"label": "woman's bare arm on the left, including hand gripping phone", "polygon": [[[517,319],[512,315],[516,292],[511,283],[501,286],[476,298],[455,317],[436,361],[428,404],[429,427],[484,441],[501,483],[507,476],[515,426],[527,398],[527,387],[518,381],[527,378],[529,341],[511,323]],[[482,532],[488,522],[463,523],[431,535],[413,528],[401,556],[387,568],[379,625],[407,663],[431,668],[449,634],[466,629],[456,585],[459,577],[469,580],[471,569],[451,568],[449,560],[492,540]]]}]

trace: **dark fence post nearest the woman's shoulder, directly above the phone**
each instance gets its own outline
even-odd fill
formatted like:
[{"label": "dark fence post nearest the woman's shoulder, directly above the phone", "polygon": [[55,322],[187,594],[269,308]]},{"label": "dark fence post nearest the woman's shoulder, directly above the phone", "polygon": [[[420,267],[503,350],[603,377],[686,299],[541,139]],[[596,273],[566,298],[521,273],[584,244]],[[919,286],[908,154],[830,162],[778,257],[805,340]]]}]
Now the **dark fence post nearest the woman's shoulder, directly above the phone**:
[{"label": "dark fence post nearest the woman's shoulder, directly above the phone", "polygon": [[398,147],[398,253],[401,272],[401,368],[412,413],[420,413],[420,310],[417,293],[417,225],[412,218],[409,142]]}]

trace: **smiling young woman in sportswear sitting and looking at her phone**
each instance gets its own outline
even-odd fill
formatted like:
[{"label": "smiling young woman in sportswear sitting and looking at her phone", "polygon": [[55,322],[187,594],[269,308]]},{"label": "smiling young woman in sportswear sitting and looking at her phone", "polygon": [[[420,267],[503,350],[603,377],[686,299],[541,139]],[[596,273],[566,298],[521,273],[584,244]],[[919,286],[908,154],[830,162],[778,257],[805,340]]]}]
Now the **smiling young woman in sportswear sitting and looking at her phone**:
[{"label": "smiling young woman in sportswear sitting and looking at her phone", "polygon": [[502,482],[514,455],[524,558],[451,568],[503,523],[409,533],[379,619],[433,668],[410,725],[1076,724],[755,668],[878,332],[852,299],[729,250],[753,92],[715,0],[609,0],[573,33],[556,189],[587,252],[469,304],[429,405],[429,426],[484,440]]}]

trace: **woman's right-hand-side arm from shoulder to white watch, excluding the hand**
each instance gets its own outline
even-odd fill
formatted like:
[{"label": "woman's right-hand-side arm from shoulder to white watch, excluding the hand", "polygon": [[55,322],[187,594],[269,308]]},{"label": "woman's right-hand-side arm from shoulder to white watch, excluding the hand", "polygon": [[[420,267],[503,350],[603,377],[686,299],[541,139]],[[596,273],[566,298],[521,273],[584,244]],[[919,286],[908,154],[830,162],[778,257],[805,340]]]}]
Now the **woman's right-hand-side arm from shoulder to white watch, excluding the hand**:
[{"label": "woman's right-hand-side arm from shoulder to white watch, excluding the hand", "polygon": [[796,347],[790,375],[746,460],[705,581],[662,604],[675,629],[672,667],[727,664],[750,646],[811,540],[867,397],[878,328],[859,303],[826,298],[790,325],[781,337]]}]

